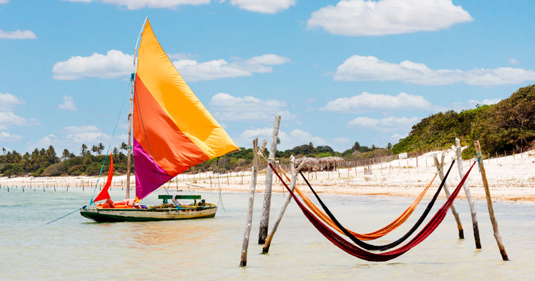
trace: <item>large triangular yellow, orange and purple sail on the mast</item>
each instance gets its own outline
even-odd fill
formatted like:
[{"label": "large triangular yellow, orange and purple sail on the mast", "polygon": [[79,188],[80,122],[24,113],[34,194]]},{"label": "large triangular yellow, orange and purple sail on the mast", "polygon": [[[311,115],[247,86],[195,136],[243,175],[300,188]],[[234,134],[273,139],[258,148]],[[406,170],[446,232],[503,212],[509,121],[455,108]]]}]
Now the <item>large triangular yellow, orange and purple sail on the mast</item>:
[{"label": "large triangular yellow, orange and purple sail on the mast", "polygon": [[139,199],[189,167],[239,149],[182,79],[148,20],[139,45],[133,106]]}]

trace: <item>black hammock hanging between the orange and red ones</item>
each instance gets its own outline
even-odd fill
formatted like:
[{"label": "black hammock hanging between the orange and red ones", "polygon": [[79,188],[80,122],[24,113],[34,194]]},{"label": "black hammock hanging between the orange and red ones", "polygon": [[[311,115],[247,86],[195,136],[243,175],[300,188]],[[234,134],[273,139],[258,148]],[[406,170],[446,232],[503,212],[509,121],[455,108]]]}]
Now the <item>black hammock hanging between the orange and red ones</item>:
[{"label": "black hammock hanging between the orange and red ones", "polygon": [[314,196],[316,197],[316,199],[318,199],[318,202],[320,202],[320,204],[322,205],[322,208],[325,211],[325,213],[327,213],[327,215],[329,215],[329,218],[332,220],[332,222],[334,222],[334,224],[338,227],[338,229],[341,229],[342,232],[347,237],[349,237],[349,239],[351,239],[351,241],[355,242],[355,244],[357,244],[358,246],[361,246],[362,248],[367,249],[369,251],[386,251],[388,249],[392,249],[395,246],[398,246],[403,241],[407,240],[407,238],[409,238],[409,236],[411,236],[412,233],[414,233],[414,231],[416,231],[416,229],[418,229],[420,224],[422,224],[422,222],[424,222],[425,217],[427,217],[429,212],[431,212],[431,209],[433,208],[433,205],[435,204],[436,199],[438,198],[438,194],[440,194],[440,191],[442,190],[442,186],[444,186],[444,183],[446,182],[446,179],[447,179],[447,177],[449,175],[449,171],[451,171],[451,168],[454,166],[454,163],[455,163],[455,160],[453,162],[451,162],[451,165],[449,166],[449,169],[448,169],[445,177],[442,179],[442,182],[440,182],[440,186],[438,186],[438,189],[437,189],[435,195],[433,196],[433,199],[431,199],[429,204],[427,204],[427,207],[425,208],[425,211],[422,213],[422,215],[420,215],[420,217],[418,218],[418,221],[416,221],[414,226],[412,226],[412,228],[409,229],[409,231],[407,233],[405,233],[405,235],[403,235],[398,240],[396,240],[394,242],[391,242],[389,244],[386,244],[386,245],[381,245],[381,246],[376,246],[376,245],[368,244],[366,242],[362,242],[361,240],[356,238],[354,235],[349,233],[349,231],[347,231],[347,229],[345,229],[344,226],[342,226],[342,224],[340,224],[340,222],[338,222],[338,220],[333,215],[333,213],[331,213],[329,208],[327,208],[327,206],[323,203],[323,200],[321,200],[320,196],[318,196],[318,193],[315,193],[314,189],[309,184],[309,181],[304,177],[304,175],[302,173],[301,173],[301,176],[303,177],[304,181],[307,182],[310,190],[312,191],[312,193],[314,193]]}]

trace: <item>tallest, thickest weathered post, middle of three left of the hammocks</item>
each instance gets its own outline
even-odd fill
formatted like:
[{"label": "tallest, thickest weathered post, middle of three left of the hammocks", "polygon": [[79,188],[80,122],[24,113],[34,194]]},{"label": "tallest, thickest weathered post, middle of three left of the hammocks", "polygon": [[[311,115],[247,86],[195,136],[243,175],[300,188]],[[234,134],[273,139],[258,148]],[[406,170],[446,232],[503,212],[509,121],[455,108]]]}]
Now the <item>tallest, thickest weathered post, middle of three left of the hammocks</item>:
[{"label": "tallest, thickest weathered post, middle of three left of the hammocks", "polygon": [[[277,139],[279,135],[280,116],[275,116],[275,124],[273,124],[273,135],[271,136],[271,147],[269,148],[268,162],[275,164],[275,153],[277,152]],[[268,163],[268,164],[269,164]],[[264,204],[262,205],[262,216],[260,217],[260,231],[258,233],[258,244],[266,242],[268,224],[269,224],[269,208],[271,207],[271,184],[273,182],[273,171],[266,168],[266,189],[264,191]]]}]

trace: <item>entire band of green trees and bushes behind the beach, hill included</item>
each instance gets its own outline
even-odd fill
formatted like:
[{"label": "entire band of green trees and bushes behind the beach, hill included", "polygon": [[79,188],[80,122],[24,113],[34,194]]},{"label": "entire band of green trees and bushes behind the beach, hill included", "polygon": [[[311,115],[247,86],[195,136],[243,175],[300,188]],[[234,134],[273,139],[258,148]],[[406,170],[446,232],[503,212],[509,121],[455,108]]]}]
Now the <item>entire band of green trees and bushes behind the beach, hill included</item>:
[{"label": "entire band of green trees and bushes behind the beach, hill included", "polygon": [[[440,148],[449,148],[459,137],[461,144],[469,145],[463,151],[463,157],[474,155],[474,140],[479,139],[483,152],[503,153],[503,151],[520,151],[521,148],[535,146],[535,86],[520,88],[511,97],[503,99],[491,106],[477,106],[474,109],[456,113],[449,110],[422,119],[412,127],[411,133],[398,144],[387,148],[361,146],[355,142],[353,146],[340,153],[330,146],[314,146],[312,143],[295,146],[286,151],[277,151],[275,158],[282,164],[289,163],[290,155],[295,157],[343,157],[347,161],[385,157],[403,152],[422,152]],[[81,144],[80,154],[76,156],[67,149],[57,157],[54,147],[48,149],[35,148],[32,153],[21,155],[17,151],[2,149],[0,155],[0,174],[5,177],[18,175],[57,176],[57,175],[98,175],[106,155],[104,145],[93,145],[89,148]],[[253,149],[240,148],[217,159],[202,162],[186,172],[198,171],[244,171],[251,168]],[[126,173],[127,145],[113,148],[115,173]],[[267,149],[264,155],[268,155]],[[262,164],[265,160],[261,159]],[[109,157],[102,171],[108,171]],[[132,166],[132,169],[134,166]]]}]

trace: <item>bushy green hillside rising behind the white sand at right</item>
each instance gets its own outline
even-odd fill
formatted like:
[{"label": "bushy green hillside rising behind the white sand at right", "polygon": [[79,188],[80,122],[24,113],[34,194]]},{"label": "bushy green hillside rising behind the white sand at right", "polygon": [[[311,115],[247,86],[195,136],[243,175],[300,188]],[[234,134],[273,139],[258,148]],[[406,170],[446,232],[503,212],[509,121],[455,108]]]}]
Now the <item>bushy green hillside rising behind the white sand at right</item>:
[{"label": "bushy green hillside rising behind the white sand at right", "polygon": [[469,147],[463,157],[474,155],[479,139],[484,153],[503,153],[532,148],[535,144],[535,85],[520,88],[511,97],[491,106],[456,113],[453,110],[422,119],[393,153],[448,148],[459,137]]}]

